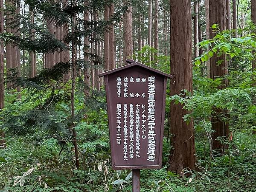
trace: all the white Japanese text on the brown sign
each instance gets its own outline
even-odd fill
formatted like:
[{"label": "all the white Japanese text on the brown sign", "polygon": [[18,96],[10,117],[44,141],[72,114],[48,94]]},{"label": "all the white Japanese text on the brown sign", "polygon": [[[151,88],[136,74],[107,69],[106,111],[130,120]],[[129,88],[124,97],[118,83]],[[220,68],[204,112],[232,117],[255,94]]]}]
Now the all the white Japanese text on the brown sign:
[{"label": "all the white Japanese text on the brown sign", "polygon": [[[130,92],[129,83],[145,84],[148,93]],[[148,79],[117,77],[116,90],[117,97],[147,99],[147,105],[131,102],[116,104],[116,144],[123,146],[123,160],[140,158],[140,139],[147,139],[147,161],[154,162],[156,158],[155,76],[149,76]]]}]

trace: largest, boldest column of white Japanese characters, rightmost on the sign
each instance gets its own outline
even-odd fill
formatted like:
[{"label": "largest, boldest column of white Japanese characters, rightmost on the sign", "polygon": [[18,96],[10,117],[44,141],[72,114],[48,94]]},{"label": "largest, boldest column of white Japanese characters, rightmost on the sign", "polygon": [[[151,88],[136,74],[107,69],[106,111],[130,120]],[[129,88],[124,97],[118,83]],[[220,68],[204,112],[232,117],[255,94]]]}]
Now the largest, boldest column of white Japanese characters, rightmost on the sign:
[{"label": "largest, boldest column of white Japanese characters, rightmost on the sign", "polygon": [[148,77],[148,161],[155,161],[155,77]]}]

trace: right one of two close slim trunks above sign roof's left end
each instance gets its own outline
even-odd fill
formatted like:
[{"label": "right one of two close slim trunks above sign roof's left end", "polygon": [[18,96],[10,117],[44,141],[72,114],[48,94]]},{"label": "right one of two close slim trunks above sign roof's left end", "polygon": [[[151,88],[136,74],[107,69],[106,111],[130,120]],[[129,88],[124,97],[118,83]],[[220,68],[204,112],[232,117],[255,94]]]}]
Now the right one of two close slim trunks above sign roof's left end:
[{"label": "right one of two close slim trunks above sign roof's left end", "polygon": [[[114,14],[114,4],[111,3],[109,15],[113,17]],[[109,27],[109,67],[110,70],[116,68],[116,49],[115,49],[115,31],[114,31],[114,23],[112,21]]]}]

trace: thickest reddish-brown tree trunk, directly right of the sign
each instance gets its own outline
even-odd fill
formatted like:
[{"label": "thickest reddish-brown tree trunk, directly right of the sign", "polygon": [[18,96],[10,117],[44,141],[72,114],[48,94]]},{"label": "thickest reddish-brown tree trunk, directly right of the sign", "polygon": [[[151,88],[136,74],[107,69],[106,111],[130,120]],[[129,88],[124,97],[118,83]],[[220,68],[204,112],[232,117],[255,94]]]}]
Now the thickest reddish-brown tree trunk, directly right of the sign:
[{"label": "thickest reddish-brown tree trunk, directly right of the sign", "polygon": [[[192,93],[192,41],[190,0],[170,0],[171,7],[171,74],[170,94],[180,94],[186,89]],[[183,116],[188,111],[182,104],[170,104],[170,129],[174,134],[169,159],[169,170],[183,175],[185,167],[195,170],[195,136],[193,122],[186,123]]]}]

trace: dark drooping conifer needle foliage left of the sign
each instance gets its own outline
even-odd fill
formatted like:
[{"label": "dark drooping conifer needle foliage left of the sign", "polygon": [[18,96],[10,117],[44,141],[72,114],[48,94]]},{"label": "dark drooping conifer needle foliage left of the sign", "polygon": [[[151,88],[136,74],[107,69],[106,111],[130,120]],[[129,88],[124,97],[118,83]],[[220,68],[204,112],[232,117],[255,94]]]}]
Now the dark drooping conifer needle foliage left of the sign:
[{"label": "dark drooping conifer needle foliage left of the sign", "polygon": [[[105,3],[111,2],[93,0],[87,1],[85,6],[82,0],[76,2],[67,0],[64,6],[52,0],[25,0],[26,8],[33,10],[35,23],[31,23],[30,14],[15,14],[15,9],[7,6],[6,13],[15,15],[11,18],[18,18],[10,21],[11,27],[19,26],[17,33],[10,35],[9,38],[13,45],[17,45],[22,50],[43,54],[68,50],[73,57],[73,48],[84,45],[84,37],[88,37],[90,43],[102,41],[102,35],[108,25],[113,21],[119,21],[121,14],[129,6],[129,3],[122,5],[122,8],[119,8],[109,22],[83,20],[84,11],[91,14],[95,11],[103,11]],[[76,22],[73,22],[73,17],[76,17]],[[46,23],[52,23],[55,28],[65,27],[67,34],[64,35],[64,39],[57,40],[48,31]],[[34,40],[30,38],[32,30],[35,31]],[[68,62],[58,62],[52,68],[43,69],[33,78],[18,77],[16,70],[11,69],[12,76],[7,81],[11,81],[13,87],[23,88],[22,90],[26,91],[27,95],[23,102],[33,101],[33,105],[31,109],[22,114],[7,112],[3,126],[9,130],[9,133],[34,135],[37,140],[55,138],[58,141],[73,141],[73,127],[81,122],[84,114],[89,111],[106,110],[105,99],[102,99],[105,96],[104,91],[90,90],[90,96],[86,97],[82,91],[88,89],[83,82],[84,68],[103,68],[104,60],[89,52],[84,53],[85,56],[89,57],[90,62],[73,57]],[[71,79],[63,79],[65,74],[71,73],[72,67],[77,72],[81,71],[77,73],[75,82],[71,82]],[[80,106],[75,111],[75,116],[70,116],[71,91],[73,90],[71,86],[73,87],[74,83],[75,99],[80,102]]]}]

